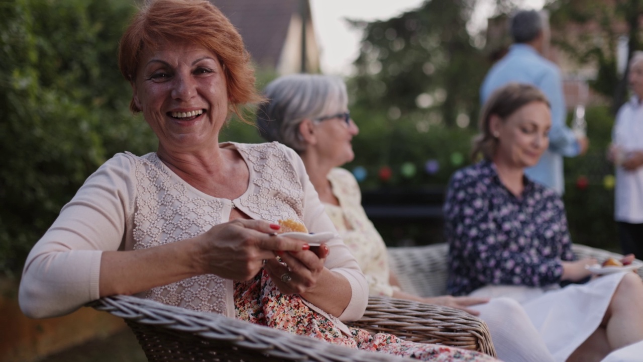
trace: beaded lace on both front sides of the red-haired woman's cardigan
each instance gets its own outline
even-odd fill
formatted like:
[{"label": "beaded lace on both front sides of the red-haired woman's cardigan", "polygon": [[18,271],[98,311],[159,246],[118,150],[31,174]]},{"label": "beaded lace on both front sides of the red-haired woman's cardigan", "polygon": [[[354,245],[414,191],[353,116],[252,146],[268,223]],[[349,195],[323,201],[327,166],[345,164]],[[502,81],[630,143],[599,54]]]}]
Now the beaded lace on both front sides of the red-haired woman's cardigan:
[{"label": "beaded lace on both front sides of the red-haired woman's cardigan", "polygon": [[[234,144],[248,160],[251,192],[239,204],[251,210],[255,218],[277,221],[303,220],[303,188],[284,148],[271,144]],[[155,153],[136,159],[136,213],[134,214],[134,249],[145,249],[177,242],[203,234],[221,224],[223,203],[208,200],[190,191],[183,182],[173,180]],[[195,276],[155,287],[145,298],[205,312],[226,312],[224,279],[213,274]]]}]

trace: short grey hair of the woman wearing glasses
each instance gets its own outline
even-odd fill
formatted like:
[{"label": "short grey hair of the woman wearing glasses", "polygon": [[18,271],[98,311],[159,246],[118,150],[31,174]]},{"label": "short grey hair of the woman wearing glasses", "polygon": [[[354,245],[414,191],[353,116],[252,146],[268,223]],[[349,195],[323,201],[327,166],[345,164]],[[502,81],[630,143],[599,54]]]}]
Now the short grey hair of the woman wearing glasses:
[{"label": "short grey hair of the woman wearing glasses", "polygon": [[348,106],[346,84],[332,75],[284,75],[266,86],[264,96],[267,100],[257,111],[259,133],[298,153],[306,146],[299,133],[304,119],[332,115]]}]

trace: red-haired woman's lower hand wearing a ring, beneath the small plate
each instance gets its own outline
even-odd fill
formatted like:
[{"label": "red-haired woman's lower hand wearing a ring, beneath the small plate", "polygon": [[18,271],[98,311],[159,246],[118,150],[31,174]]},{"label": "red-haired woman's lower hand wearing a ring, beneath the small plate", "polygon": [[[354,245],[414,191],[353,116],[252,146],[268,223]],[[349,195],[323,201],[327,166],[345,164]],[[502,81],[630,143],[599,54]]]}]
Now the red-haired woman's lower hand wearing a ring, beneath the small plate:
[{"label": "red-haired woman's lower hand wearing a ring, beneath the small plate", "polygon": [[[286,237],[284,237],[285,239]],[[324,271],[324,262],[329,254],[326,245],[303,251],[278,252],[282,262],[276,258],[266,260],[266,271],[275,285],[284,294],[304,294],[317,284]]]}]

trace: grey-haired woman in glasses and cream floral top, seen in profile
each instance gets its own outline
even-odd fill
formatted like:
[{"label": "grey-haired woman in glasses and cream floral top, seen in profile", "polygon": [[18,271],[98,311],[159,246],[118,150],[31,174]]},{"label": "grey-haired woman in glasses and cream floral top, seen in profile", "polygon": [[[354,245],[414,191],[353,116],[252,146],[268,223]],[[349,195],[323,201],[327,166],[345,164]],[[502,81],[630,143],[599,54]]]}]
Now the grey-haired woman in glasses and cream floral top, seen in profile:
[{"label": "grey-haired woman in glasses and cream floral top, seen in profile", "polygon": [[354,158],[351,140],[359,133],[350,118],[346,86],[341,79],[328,75],[286,75],[268,84],[264,95],[269,101],[261,104],[257,112],[262,137],[281,142],[302,157],[326,213],[367,277],[370,294],[466,310],[487,323],[500,359],[553,361],[516,301],[453,296],[426,298],[390,284],[393,275],[386,244],[361,205],[356,179],[340,168]]}]

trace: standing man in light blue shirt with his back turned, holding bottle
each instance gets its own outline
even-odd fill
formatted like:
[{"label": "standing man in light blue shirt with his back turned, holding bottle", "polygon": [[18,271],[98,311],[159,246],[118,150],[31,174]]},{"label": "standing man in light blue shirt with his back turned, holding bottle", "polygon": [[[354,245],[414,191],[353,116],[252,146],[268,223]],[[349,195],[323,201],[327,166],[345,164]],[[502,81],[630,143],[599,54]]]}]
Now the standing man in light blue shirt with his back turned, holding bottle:
[{"label": "standing man in light blue shirt with his back turned, holding bottle", "polygon": [[565,124],[565,96],[560,70],[541,55],[549,44],[548,21],[543,15],[536,10],[523,10],[512,17],[509,31],[514,44],[487,73],[480,87],[480,100],[484,104],[494,90],[509,82],[533,84],[547,95],[552,106],[549,148],[538,164],[525,169],[525,173],[562,195],[565,191],[563,156],[575,157],[585,153],[589,142],[586,137],[575,135]]}]

